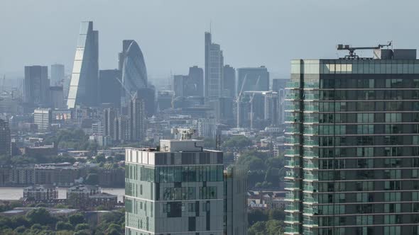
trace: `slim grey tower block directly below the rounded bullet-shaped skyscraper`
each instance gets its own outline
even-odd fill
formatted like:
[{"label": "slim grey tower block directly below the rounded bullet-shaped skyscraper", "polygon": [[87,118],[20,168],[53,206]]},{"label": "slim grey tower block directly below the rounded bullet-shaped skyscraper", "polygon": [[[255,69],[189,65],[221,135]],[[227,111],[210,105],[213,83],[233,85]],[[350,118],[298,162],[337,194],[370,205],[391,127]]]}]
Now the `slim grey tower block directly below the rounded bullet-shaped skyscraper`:
[{"label": "slim grey tower block directly below the rounded bullet-shaped skyscraper", "polygon": [[129,122],[131,128],[131,141],[141,141],[144,139],[145,130],[145,104],[143,99],[135,98],[129,104]]}]

